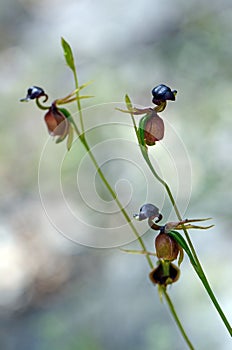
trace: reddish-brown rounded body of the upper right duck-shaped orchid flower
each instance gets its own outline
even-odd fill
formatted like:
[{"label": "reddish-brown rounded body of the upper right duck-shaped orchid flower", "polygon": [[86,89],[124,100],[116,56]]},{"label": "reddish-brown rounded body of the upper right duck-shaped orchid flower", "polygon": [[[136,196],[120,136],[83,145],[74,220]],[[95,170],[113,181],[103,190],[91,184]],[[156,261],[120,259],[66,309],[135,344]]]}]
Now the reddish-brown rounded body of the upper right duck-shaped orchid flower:
[{"label": "reddish-brown rounded body of the upper right duck-shaped orchid flower", "polygon": [[153,110],[146,114],[139,122],[139,133],[141,140],[148,146],[155,145],[156,141],[164,137],[164,122]]}]

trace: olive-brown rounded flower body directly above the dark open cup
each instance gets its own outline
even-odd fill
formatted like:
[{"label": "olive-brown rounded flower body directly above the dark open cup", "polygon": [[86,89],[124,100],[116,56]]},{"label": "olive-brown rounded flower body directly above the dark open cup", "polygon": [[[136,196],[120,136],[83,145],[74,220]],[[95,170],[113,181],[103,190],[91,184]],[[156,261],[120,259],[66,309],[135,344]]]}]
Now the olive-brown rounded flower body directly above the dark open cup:
[{"label": "olive-brown rounded flower body directly above the dark open cup", "polygon": [[156,255],[159,259],[173,261],[179,254],[178,243],[166,233],[159,233],[155,239]]}]

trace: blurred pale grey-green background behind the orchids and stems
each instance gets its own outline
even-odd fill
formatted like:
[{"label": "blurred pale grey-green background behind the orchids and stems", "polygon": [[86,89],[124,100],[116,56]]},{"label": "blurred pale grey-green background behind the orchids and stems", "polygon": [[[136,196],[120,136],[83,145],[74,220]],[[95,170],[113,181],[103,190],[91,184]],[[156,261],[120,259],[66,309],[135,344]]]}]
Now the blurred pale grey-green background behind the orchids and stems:
[{"label": "blurred pale grey-green background behind the orchids and stems", "polygon": [[[0,4],[0,29],[0,348],[186,347],[148,280],[144,257],[113,248],[131,241],[129,228],[119,213],[98,212],[96,193],[88,192],[92,185],[103,207],[106,203],[113,212],[115,207],[86,160],[78,188],[78,166],[85,156],[81,146],[76,142],[64,156],[65,145],[49,141],[43,152],[48,140],[43,112],[32,102],[19,103],[31,85],[42,86],[51,99],[72,91],[61,36],[76,54],[80,82],[94,80],[86,91],[95,98],[83,103],[90,144],[112,184],[124,179],[118,191],[131,216],[147,199],[162,208],[164,217],[173,213],[140,158],[129,117],[114,108],[123,106],[125,93],[134,103],[149,106],[150,91],[159,83],[178,90],[177,102],[163,113],[164,148],[157,145],[151,153],[175,194],[178,187],[183,216],[213,217],[213,229],[191,236],[232,321],[231,1],[9,0]],[[120,127],[107,131],[113,122]],[[178,147],[184,160],[176,140],[183,143]],[[64,198],[57,195],[54,183],[62,157],[65,198],[75,214],[81,213],[84,228],[67,222]],[[111,249],[86,247],[98,246],[94,227],[110,231],[116,226],[119,238],[113,236]],[[141,223],[136,227],[147,229]],[[152,250],[153,232],[144,237]],[[104,246],[102,240],[99,246]],[[231,349],[228,332],[187,258],[170,295],[196,349]]]}]

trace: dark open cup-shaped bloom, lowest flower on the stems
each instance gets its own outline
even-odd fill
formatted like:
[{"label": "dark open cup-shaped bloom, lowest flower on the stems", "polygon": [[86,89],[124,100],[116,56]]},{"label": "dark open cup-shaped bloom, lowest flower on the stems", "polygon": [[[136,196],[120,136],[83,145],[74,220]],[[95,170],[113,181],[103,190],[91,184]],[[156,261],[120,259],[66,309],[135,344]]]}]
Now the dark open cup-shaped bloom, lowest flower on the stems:
[{"label": "dark open cup-shaped bloom, lowest flower on the stems", "polygon": [[170,262],[158,262],[158,267],[153,269],[149,274],[150,280],[154,284],[167,286],[176,282],[180,277],[179,268]]}]

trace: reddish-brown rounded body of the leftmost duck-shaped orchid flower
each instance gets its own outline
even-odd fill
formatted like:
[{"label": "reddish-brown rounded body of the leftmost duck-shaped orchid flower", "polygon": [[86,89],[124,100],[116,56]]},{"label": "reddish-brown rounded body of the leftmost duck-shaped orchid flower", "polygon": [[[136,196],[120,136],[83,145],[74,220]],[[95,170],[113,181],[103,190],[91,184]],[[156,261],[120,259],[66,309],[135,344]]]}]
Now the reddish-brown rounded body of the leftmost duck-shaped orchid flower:
[{"label": "reddish-brown rounded body of the leftmost duck-shaped orchid flower", "polygon": [[69,121],[65,115],[59,110],[55,103],[51,105],[48,112],[44,116],[48,132],[52,136],[60,136],[62,140],[69,133]]}]

